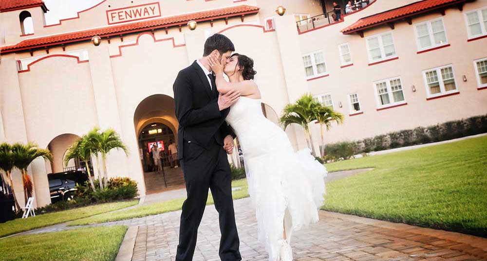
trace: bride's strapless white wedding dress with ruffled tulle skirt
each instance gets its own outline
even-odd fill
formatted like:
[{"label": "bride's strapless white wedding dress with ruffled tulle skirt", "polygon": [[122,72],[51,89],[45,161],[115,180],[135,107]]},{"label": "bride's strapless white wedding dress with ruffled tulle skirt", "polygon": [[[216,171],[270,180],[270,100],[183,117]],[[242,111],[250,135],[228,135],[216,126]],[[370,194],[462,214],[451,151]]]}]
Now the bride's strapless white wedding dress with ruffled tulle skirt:
[{"label": "bride's strapless white wedding dress with ruffled tulle skirt", "polygon": [[270,261],[280,260],[282,221],[288,242],[293,230],[318,222],[326,169],[309,149],[294,151],[286,133],[262,114],[260,99],[241,97],[226,121],[244,153],[259,241],[265,244]]}]

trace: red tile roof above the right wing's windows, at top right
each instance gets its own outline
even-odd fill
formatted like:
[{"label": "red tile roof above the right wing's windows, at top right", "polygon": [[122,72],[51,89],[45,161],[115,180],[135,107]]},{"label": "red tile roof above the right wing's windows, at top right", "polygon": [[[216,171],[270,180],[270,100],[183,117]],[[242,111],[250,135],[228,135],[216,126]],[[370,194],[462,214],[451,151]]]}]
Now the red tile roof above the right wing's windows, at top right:
[{"label": "red tile roof above the right wing's windows, at top right", "polygon": [[405,6],[391,9],[372,16],[360,18],[354,24],[341,30],[345,35],[352,34],[367,28],[371,28],[387,22],[412,17],[432,10],[451,7],[456,4],[463,4],[469,0],[423,0]]}]

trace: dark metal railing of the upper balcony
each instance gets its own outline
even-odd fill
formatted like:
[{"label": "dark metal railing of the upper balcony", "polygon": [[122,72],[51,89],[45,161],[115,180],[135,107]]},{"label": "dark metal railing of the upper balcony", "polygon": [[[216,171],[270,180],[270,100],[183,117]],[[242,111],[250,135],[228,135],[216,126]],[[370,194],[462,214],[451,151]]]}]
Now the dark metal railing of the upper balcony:
[{"label": "dark metal railing of the upper balcony", "polygon": [[327,12],[326,14],[321,14],[314,17],[309,17],[306,19],[302,19],[296,22],[296,26],[298,28],[298,32],[306,32],[313,30],[315,28],[323,27],[325,25],[329,25],[332,23],[339,22],[343,20],[344,15],[355,13],[363,8],[365,8],[370,3],[374,2],[375,0],[352,0],[352,6],[347,8],[346,6],[342,6],[340,10],[340,19],[337,18],[335,11]]}]

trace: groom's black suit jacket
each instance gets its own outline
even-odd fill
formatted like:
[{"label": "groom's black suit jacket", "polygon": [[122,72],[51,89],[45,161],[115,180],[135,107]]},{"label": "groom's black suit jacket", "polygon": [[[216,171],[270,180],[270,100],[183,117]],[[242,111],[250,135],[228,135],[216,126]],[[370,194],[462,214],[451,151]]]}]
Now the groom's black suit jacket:
[{"label": "groom's black suit jacket", "polygon": [[220,111],[218,91],[213,81],[210,88],[205,72],[193,62],[189,67],[180,70],[172,89],[178,128],[178,158],[184,159],[184,140],[195,142],[208,148],[211,142],[223,146],[227,135],[235,138],[225,118],[229,108]]}]

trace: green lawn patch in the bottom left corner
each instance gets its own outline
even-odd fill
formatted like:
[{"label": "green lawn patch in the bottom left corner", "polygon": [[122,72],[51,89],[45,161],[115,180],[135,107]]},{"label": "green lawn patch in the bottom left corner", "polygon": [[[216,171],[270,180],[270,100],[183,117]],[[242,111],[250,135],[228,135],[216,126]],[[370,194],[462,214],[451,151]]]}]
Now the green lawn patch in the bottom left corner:
[{"label": "green lawn patch in the bottom left corner", "polygon": [[2,261],[113,261],[127,226],[90,227],[0,240]]}]

